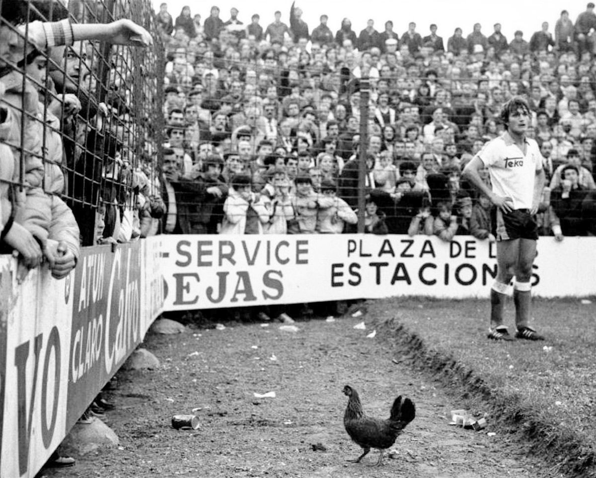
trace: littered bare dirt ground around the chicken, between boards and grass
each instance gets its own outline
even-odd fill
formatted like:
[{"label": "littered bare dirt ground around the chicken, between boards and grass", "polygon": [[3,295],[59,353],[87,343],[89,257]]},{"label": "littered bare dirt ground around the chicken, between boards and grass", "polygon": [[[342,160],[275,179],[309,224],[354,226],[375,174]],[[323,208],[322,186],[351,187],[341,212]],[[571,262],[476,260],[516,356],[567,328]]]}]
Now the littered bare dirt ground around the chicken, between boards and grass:
[{"label": "littered bare dirt ground around the chicken, between boards and grass", "polygon": [[[366,330],[353,328],[361,321]],[[70,477],[552,477],[544,463],[495,427],[480,432],[448,423],[457,394],[402,363],[390,337],[368,338],[372,318],[226,324],[176,336],[149,334],[144,347],[157,370],[120,372],[116,409],[103,419],[120,445],[79,456]],[[397,363],[396,363],[397,362]],[[383,466],[343,428],[344,384],[360,393],[365,412],[388,417],[397,395],[417,416]],[[275,392],[275,398],[256,398]],[[175,430],[172,415],[195,414],[197,430]],[[482,410],[475,410],[482,416]],[[488,432],[496,433],[489,436]],[[313,447],[313,445],[321,445]],[[313,448],[322,448],[316,449]]]}]

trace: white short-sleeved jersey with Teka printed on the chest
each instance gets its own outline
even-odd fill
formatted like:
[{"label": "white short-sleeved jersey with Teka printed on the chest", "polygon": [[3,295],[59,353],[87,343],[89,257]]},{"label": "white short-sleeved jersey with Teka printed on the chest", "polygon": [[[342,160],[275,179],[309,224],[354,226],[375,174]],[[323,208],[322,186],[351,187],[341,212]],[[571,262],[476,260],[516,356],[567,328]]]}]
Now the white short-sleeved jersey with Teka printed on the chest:
[{"label": "white short-sleeved jersey with Teka printed on the chest", "polygon": [[526,154],[505,132],[492,139],[477,157],[491,175],[492,192],[513,200],[513,209],[530,209],[536,172],[542,169],[542,154],[534,139],[526,138]]}]

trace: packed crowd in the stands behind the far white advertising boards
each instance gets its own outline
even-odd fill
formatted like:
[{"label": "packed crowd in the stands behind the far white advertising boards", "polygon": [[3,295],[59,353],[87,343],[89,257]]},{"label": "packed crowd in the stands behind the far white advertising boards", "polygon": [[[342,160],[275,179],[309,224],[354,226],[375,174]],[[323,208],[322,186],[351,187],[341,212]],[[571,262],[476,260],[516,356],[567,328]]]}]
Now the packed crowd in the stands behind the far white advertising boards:
[{"label": "packed crowd in the stands behind the far white advertising boards", "polygon": [[501,106],[520,95],[548,177],[541,234],[596,233],[592,3],[575,24],[563,10],[554,33],[544,21],[529,41],[521,31],[509,41],[500,24],[444,41],[436,24],[399,34],[390,20],[381,32],[368,20],[358,32],[344,18],[334,33],[327,15],[310,29],[294,4],[288,23],[281,11],[269,24],[239,14],[225,20],[213,6],[203,19],[184,7],[173,20],[165,3],[157,13],[163,232],[355,232],[360,193],[365,232],[492,240],[492,206],[461,170],[504,131]]}]

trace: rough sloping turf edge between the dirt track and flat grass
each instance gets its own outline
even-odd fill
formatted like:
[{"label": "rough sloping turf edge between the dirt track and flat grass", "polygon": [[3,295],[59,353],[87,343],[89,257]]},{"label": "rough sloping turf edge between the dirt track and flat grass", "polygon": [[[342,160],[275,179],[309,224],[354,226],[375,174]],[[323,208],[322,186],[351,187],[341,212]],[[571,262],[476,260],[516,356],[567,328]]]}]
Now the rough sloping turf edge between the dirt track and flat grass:
[{"label": "rough sloping turf edge between the dirt track and flat grass", "polygon": [[449,351],[425,342],[398,319],[386,320],[380,327],[385,328],[387,339],[393,339],[412,367],[429,373],[454,392],[482,401],[490,408],[492,424],[497,422],[499,430],[511,433],[530,452],[552,463],[552,471],[596,478],[594,449],[569,427],[557,426],[554,417],[545,421],[537,407],[522,405],[522,396],[488,383],[473,368],[454,359]]}]

